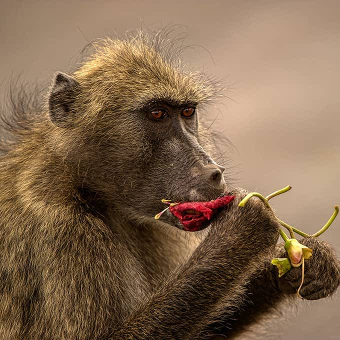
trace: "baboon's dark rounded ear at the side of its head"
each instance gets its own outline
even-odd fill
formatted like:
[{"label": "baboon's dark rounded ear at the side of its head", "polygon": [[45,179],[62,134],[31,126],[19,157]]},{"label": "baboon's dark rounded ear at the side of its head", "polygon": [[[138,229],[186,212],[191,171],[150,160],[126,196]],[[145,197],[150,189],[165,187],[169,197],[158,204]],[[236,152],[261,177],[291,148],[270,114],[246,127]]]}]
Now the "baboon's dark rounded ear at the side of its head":
[{"label": "baboon's dark rounded ear at the side of its head", "polygon": [[49,117],[55,125],[70,125],[72,106],[78,90],[79,83],[76,79],[65,73],[55,73],[48,97]]}]

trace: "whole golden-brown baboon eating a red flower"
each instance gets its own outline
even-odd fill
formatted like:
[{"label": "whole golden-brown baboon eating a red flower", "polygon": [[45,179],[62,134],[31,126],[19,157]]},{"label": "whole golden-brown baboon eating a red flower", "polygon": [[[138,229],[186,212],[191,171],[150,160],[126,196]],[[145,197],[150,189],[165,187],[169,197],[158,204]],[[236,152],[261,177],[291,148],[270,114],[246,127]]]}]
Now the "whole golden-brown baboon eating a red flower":
[{"label": "whole golden-brown baboon eating a red flower", "polygon": [[[186,68],[162,32],[91,46],[55,74],[41,109],[21,92],[3,119],[0,338],[231,338],[295,298],[301,270],[277,278],[279,225],[257,198],[237,207],[245,190],[198,232],[153,219],[161,198],[230,190],[198,113],[221,85]],[[301,295],[333,293],[334,250],[301,242],[313,249]]]}]

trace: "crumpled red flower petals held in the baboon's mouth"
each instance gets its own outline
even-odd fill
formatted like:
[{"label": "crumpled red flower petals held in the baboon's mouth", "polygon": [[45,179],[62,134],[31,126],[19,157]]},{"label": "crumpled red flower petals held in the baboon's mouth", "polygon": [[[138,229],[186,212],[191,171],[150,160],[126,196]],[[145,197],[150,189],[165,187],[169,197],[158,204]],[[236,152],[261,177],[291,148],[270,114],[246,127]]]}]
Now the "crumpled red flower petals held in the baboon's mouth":
[{"label": "crumpled red flower petals held in the baboon's mouth", "polygon": [[181,202],[170,205],[169,211],[179,219],[184,230],[197,231],[203,229],[206,222],[234,198],[235,196],[225,195],[209,201]]}]

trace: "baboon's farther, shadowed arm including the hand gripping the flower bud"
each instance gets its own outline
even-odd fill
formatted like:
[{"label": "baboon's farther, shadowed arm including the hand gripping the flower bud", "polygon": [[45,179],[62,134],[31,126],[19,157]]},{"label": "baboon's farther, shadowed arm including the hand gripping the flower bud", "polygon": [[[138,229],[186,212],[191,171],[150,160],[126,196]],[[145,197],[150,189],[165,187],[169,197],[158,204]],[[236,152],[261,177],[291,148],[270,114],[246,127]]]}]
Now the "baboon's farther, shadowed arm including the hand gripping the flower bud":
[{"label": "baboon's farther, shadowed arm including the hand gripping the flower bud", "polygon": [[[313,249],[313,255],[305,261],[304,283],[300,290],[306,299],[319,299],[333,293],[340,283],[340,262],[334,249],[326,242],[316,238],[302,238],[302,244]],[[275,257],[286,257],[283,243],[276,246]],[[262,316],[272,318],[270,312],[280,302],[290,298],[297,301],[296,290],[301,282],[301,267],[292,268],[278,278],[277,269],[270,263],[271,258],[263,261],[263,267],[246,285],[245,297],[240,308],[223,322],[211,325],[223,335],[236,335],[247,326],[255,324]],[[221,326],[222,324],[222,326]]]}]

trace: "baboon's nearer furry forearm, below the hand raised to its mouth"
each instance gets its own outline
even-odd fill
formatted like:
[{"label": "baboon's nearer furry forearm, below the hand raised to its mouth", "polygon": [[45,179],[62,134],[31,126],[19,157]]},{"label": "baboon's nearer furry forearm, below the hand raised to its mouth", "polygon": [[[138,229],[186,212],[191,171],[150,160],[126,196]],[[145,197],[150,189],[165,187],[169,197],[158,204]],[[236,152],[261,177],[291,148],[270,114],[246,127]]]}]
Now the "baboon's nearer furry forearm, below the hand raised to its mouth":
[{"label": "baboon's nearer furry forearm, below the hand raised to its mouth", "polygon": [[[223,259],[209,240],[203,241],[187,263],[173,272],[119,329],[112,330],[110,339],[192,339],[203,335],[207,325],[220,320],[221,315],[231,316],[234,306],[244,298],[251,268],[256,267],[253,255],[247,251],[250,249],[239,245],[238,250],[249,257],[237,257],[235,245],[234,241],[225,244]],[[207,249],[210,252],[205,252]]]}]

